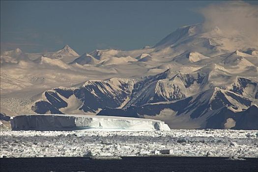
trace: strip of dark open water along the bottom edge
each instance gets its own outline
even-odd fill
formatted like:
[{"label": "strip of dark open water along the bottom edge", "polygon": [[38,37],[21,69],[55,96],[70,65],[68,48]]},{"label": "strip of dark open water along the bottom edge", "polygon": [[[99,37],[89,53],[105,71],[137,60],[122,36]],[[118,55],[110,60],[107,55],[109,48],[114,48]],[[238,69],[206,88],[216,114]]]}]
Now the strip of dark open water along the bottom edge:
[{"label": "strip of dark open water along the bottom edge", "polygon": [[0,172],[258,172],[258,159],[212,157],[1,158]]}]

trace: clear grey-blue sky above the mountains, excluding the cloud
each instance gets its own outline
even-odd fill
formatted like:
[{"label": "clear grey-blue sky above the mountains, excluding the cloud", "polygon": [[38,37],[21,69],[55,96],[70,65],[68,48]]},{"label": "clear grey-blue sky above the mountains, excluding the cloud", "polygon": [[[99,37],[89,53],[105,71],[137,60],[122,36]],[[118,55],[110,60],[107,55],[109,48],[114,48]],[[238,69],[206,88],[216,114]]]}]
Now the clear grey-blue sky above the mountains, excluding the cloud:
[{"label": "clear grey-blue sky above the mountains, excluding the cloud", "polygon": [[222,2],[1,0],[1,51],[50,52],[66,44],[78,54],[141,49],[179,27],[203,23],[200,9]]}]

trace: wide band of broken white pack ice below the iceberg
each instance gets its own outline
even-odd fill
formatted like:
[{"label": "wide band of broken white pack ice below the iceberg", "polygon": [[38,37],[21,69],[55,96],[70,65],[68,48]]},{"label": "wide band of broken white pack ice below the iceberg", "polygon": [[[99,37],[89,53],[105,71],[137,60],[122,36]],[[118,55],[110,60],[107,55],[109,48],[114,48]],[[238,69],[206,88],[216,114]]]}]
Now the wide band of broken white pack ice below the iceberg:
[{"label": "wide band of broken white pack ice below the iceberg", "polygon": [[168,154],[258,158],[258,130],[1,131],[0,145],[1,157]]}]

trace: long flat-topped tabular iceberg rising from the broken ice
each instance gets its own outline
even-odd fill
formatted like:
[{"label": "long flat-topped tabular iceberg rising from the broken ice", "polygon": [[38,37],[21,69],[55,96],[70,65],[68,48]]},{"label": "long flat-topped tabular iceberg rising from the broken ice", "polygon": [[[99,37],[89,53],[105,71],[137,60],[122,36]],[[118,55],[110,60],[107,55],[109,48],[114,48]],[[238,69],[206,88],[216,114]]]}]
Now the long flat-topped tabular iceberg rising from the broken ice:
[{"label": "long flat-topped tabular iceberg rising from the broken ice", "polygon": [[94,115],[20,115],[11,119],[11,126],[12,130],[170,130],[160,120]]}]

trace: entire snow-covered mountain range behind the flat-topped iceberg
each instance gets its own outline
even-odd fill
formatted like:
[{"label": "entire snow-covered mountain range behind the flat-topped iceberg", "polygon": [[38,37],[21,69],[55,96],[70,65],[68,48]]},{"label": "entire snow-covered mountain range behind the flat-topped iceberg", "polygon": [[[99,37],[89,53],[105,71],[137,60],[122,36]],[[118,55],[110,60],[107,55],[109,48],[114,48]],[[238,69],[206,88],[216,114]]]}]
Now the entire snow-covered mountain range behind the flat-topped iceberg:
[{"label": "entire snow-covered mountain range behind the flat-topped iceberg", "polygon": [[[69,46],[51,53],[3,52],[1,112],[145,117],[171,128],[258,129],[257,52],[258,45],[245,35],[204,30],[201,24],[179,28],[139,50],[81,56]],[[21,97],[29,103],[10,110]]]}]

